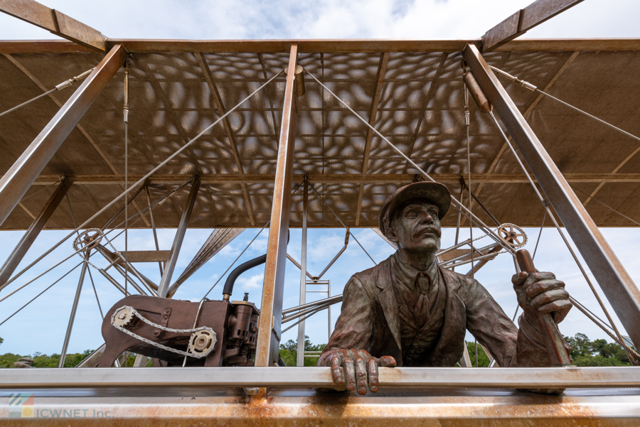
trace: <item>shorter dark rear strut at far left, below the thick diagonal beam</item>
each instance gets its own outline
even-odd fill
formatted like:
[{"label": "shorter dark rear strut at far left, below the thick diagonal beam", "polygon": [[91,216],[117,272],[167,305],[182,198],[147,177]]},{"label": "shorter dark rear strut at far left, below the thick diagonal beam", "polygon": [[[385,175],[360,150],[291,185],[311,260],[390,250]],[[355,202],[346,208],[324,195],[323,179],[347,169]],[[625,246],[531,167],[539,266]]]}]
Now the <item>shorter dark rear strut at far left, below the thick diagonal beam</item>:
[{"label": "shorter dark rear strut at far left, below the thick diagonal beam", "polygon": [[33,220],[27,231],[22,236],[22,239],[20,239],[20,242],[16,245],[14,252],[11,252],[9,257],[6,259],[2,269],[0,269],[0,290],[4,288],[4,283],[9,280],[11,274],[14,274],[16,267],[20,264],[20,261],[22,261],[51,215],[53,215],[55,208],[58,207],[60,201],[63,200],[70,186],[71,180],[63,178],[60,185],[58,185],[58,188],[55,189],[49,200],[42,208],[38,217]]}]

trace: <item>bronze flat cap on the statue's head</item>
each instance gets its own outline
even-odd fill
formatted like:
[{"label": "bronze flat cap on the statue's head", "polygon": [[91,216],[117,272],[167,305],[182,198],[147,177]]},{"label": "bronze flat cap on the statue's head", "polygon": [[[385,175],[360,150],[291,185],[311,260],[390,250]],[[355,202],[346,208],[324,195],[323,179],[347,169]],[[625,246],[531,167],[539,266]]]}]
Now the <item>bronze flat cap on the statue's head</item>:
[{"label": "bronze flat cap on the statue's head", "polygon": [[380,208],[378,222],[380,231],[387,234],[391,217],[398,207],[415,199],[424,199],[438,207],[438,219],[442,220],[451,206],[451,193],[441,183],[420,182],[405,185],[395,190]]}]

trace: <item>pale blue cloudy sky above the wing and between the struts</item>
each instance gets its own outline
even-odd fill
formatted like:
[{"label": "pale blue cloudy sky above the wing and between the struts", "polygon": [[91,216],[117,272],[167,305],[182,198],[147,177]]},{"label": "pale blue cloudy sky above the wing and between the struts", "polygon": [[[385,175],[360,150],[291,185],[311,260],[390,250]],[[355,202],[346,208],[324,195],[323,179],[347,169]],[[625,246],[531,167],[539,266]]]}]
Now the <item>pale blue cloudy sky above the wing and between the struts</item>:
[{"label": "pale blue cloudy sky above the wing and between the struts", "polygon": [[[267,39],[267,38],[405,38],[405,39],[446,39],[476,38],[502,21],[518,8],[530,3],[526,1],[477,1],[477,0],[426,0],[426,1],[120,1],[112,0],[108,6],[91,1],[45,1],[47,6],[87,23],[111,38],[185,38],[185,39]],[[630,0],[587,0],[543,23],[526,34],[525,38],[614,38],[638,37],[640,31],[636,17],[640,16],[640,2]],[[31,26],[10,16],[0,15],[0,39],[56,39],[47,31]],[[197,207],[196,207],[197,208]],[[635,220],[640,218],[636,217]],[[175,298],[199,301],[208,289],[219,281],[209,294],[209,298],[221,298],[225,280],[224,272],[257,234],[258,229],[247,229],[225,249],[203,266],[176,293]],[[393,249],[370,229],[353,229],[353,234],[375,262],[383,261],[393,253]],[[265,253],[267,244],[265,230],[253,242],[235,266],[248,259]],[[539,229],[526,229],[533,252]],[[637,229],[602,229],[631,277],[640,281],[640,260],[635,248],[640,238]],[[181,250],[174,278],[186,267],[209,231],[190,229]],[[462,230],[461,238],[468,233]],[[22,232],[1,232],[0,259],[6,259],[21,237]],[[18,271],[33,259],[49,249],[65,236],[65,232],[45,231],[36,240]],[[115,233],[114,233],[115,234]],[[454,229],[444,229],[442,247],[454,241]],[[477,230],[474,237],[479,236]],[[159,230],[161,249],[169,249],[174,239],[174,230]],[[343,229],[309,229],[308,271],[319,274],[324,266],[343,246]],[[489,238],[481,243],[489,244]],[[113,239],[118,250],[124,249],[122,237]],[[300,259],[301,232],[292,229],[289,254]],[[134,230],[129,233],[129,249],[155,249],[150,230]],[[53,251],[35,268],[0,291],[0,298],[8,291],[21,286],[29,279],[41,274],[50,266],[72,254],[72,242],[68,241]],[[575,266],[569,252],[555,229],[545,228],[541,234],[538,254],[535,258],[538,269],[555,272],[558,279],[565,281],[567,291],[604,318],[602,310],[587,283]],[[14,296],[0,302],[0,322],[14,313],[31,298],[44,291],[51,283],[67,273],[80,262],[78,256],[56,267],[48,274],[18,291]],[[104,268],[106,262],[92,257],[92,263]],[[351,239],[348,249],[329,269],[323,279],[331,281],[331,295],[342,293],[348,278],[363,269],[373,266],[363,249]],[[159,271],[156,264],[139,264],[139,270],[156,283]],[[462,268],[466,272],[466,266]],[[100,273],[90,268],[80,295],[78,313],[73,326],[68,352],[82,352],[94,349],[102,343],[100,325],[102,318],[96,301],[96,294],[102,311],[113,306],[122,294],[108,283]],[[509,317],[516,310],[516,295],[511,287],[514,273],[513,259],[508,254],[499,255],[479,274],[478,279],[501,304]],[[67,328],[73,296],[78,286],[80,269],[75,269],[64,279],[51,287],[21,312],[0,325],[0,353],[14,352],[21,355],[42,352],[60,353]],[[259,305],[264,267],[256,267],[238,279],[232,299],[242,298],[248,292],[250,301]],[[90,279],[95,283],[94,287]],[[595,281],[592,279],[593,283]],[[299,301],[300,271],[287,261],[284,308],[297,306]],[[599,291],[599,288],[597,288]],[[311,290],[311,288],[309,288]],[[319,291],[326,288],[318,287]],[[601,293],[602,295],[602,293]],[[307,301],[326,298],[323,293],[309,293]],[[604,299],[604,298],[603,298]],[[608,303],[606,303],[608,306]],[[608,306],[609,307],[609,306]],[[614,315],[609,307],[609,312]],[[339,305],[331,311],[331,325],[339,314]],[[618,322],[614,316],[614,320]],[[312,342],[326,342],[328,337],[326,311],[306,322],[306,333]],[[286,327],[286,324],[285,324]],[[591,338],[607,338],[577,309],[573,309],[560,325],[564,335],[586,333]],[[297,328],[282,336],[282,342],[297,337]],[[471,339],[470,336],[468,336]]]}]

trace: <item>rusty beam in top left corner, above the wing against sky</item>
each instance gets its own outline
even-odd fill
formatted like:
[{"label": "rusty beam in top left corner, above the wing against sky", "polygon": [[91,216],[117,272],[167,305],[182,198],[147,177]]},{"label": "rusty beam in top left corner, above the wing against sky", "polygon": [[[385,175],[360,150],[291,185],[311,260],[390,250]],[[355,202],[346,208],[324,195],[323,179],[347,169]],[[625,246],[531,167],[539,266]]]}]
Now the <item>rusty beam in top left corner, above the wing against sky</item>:
[{"label": "rusty beam in top left corner, above the wing against sky", "polygon": [[43,28],[91,50],[105,52],[107,37],[86,24],[33,0],[0,0],[0,12]]}]

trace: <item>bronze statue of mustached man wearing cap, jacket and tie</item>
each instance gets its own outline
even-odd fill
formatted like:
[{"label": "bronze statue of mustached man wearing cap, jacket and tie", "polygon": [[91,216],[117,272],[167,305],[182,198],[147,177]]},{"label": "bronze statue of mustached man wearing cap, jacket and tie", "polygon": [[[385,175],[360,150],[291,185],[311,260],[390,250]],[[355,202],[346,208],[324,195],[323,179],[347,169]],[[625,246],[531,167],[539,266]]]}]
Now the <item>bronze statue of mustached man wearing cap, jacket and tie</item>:
[{"label": "bronze statue of mustached man wearing cap, jacket and tie", "polygon": [[[380,209],[380,230],[398,252],[354,274],[334,333],[318,362],[351,391],[378,391],[378,366],[452,367],[469,330],[501,367],[550,366],[538,312],[556,323],[572,303],[552,273],[513,276],[523,315],[516,328],[478,281],[438,265],[440,221],[451,195],[440,183],[412,183]],[[569,347],[565,343],[567,352]],[[343,370],[340,368],[343,367]]]}]

